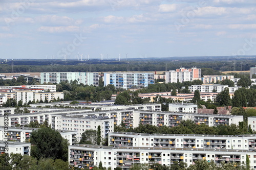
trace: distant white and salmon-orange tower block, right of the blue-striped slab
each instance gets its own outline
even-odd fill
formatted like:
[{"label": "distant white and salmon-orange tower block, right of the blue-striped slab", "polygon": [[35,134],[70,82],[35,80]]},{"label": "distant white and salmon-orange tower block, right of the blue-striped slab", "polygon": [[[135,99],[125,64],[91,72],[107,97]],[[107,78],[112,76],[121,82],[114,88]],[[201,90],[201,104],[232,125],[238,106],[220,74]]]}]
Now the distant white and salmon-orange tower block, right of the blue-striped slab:
[{"label": "distant white and salmon-orange tower block, right of the blue-striped slab", "polygon": [[201,78],[201,68],[179,68],[165,72],[166,83],[177,83],[185,81],[193,81]]}]

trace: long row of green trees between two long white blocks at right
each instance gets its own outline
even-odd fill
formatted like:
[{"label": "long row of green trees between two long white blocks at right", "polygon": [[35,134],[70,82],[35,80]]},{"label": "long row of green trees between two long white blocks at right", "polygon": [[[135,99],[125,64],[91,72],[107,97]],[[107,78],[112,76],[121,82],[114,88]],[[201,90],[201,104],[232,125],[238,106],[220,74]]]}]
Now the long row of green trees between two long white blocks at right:
[{"label": "long row of green trees between two long white blocks at right", "polygon": [[122,123],[120,126],[114,126],[115,132],[134,132],[134,133],[159,133],[159,134],[202,134],[202,135],[240,135],[240,134],[252,134],[251,128],[247,128],[247,124],[240,122],[239,126],[231,125],[219,125],[217,127],[209,127],[205,124],[196,125],[191,120],[183,120],[176,127],[167,126],[153,126],[139,124],[136,128],[125,128]]}]

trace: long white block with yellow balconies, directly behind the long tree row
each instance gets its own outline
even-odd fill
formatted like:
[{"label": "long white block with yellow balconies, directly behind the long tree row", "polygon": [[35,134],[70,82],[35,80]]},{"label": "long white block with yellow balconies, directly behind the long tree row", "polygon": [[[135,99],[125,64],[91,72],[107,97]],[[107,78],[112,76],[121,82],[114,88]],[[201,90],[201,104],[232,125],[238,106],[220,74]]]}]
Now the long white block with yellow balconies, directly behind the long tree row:
[{"label": "long white block with yellow balconies, directly behind the long tree row", "polygon": [[182,120],[192,120],[195,124],[206,124],[207,126],[218,125],[239,125],[239,122],[243,121],[242,115],[218,115],[218,114],[196,114],[196,113],[179,113],[179,112],[166,112],[166,111],[139,111],[134,109],[120,109],[120,110],[108,110],[97,111],[87,113],[74,113],[70,116],[108,116],[113,118],[114,125],[121,125],[124,123],[126,128],[136,128],[139,124],[142,125],[154,125],[154,126],[178,126]]}]

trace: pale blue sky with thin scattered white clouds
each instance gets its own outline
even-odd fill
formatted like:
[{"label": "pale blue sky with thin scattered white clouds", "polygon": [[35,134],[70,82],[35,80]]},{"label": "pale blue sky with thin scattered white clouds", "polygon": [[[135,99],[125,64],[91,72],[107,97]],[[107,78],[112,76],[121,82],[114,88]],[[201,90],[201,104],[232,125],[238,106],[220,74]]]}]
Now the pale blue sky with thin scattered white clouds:
[{"label": "pale blue sky with thin scattered white clouds", "polygon": [[256,55],[255,21],[255,0],[1,0],[0,58]]}]

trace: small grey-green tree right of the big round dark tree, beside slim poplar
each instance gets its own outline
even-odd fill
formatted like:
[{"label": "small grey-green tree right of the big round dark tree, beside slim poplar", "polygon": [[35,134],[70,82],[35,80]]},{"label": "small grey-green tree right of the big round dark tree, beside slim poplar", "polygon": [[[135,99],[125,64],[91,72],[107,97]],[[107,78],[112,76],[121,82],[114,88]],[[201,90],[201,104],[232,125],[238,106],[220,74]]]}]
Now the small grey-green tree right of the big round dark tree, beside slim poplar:
[{"label": "small grey-green tree right of the big round dark tree, beside slim poplar", "polygon": [[82,133],[82,138],[79,141],[80,144],[97,144],[97,131],[90,129]]}]

